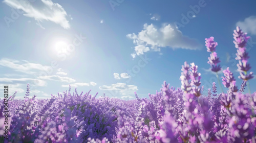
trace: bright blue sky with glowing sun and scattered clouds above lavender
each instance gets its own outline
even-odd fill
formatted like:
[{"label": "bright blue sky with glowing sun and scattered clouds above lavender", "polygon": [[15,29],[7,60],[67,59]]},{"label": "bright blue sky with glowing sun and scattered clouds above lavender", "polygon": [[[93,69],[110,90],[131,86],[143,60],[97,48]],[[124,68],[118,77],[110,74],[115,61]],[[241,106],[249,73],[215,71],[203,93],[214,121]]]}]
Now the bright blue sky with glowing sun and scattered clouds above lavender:
[{"label": "bright blue sky with glowing sun and scattered clouds above lavender", "polygon": [[[129,100],[135,91],[139,97],[155,94],[163,81],[180,87],[187,61],[198,65],[206,93],[217,83],[205,47],[205,38],[213,36],[222,68],[230,67],[240,87],[232,34],[240,26],[251,37],[247,50],[255,73],[255,6],[256,1],[4,0],[0,86],[18,91],[18,98],[29,83],[38,98],[71,85],[72,92],[92,89]],[[255,78],[249,83],[255,91]]]}]

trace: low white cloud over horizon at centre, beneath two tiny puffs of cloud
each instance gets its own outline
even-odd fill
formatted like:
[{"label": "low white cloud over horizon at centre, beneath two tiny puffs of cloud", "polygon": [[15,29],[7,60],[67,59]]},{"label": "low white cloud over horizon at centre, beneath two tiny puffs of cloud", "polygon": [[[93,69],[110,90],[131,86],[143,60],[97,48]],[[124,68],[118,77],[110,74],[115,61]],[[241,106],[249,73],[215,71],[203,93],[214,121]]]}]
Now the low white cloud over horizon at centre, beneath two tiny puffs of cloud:
[{"label": "low white cloud over horizon at centre, beneath two tiny puffs of cloud", "polygon": [[103,85],[99,87],[100,90],[108,90],[106,95],[110,94],[111,97],[133,98],[134,92],[138,90],[136,85],[126,85],[125,83],[115,83],[110,86]]}]

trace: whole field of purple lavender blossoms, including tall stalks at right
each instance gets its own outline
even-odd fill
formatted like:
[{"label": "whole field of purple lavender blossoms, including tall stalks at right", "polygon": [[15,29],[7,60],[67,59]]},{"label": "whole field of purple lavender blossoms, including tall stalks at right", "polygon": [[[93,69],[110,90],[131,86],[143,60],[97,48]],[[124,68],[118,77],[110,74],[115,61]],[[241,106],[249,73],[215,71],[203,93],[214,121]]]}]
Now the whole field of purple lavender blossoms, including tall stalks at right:
[{"label": "whole field of purple lavender blossoms, including tall stalks at right", "polygon": [[[37,100],[29,97],[29,84],[24,100],[9,98],[10,122],[5,142],[255,142],[256,92],[243,94],[253,73],[248,63],[246,42],[249,37],[239,28],[234,30],[238,70],[243,79],[240,90],[229,68],[223,70],[227,93],[217,93],[216,83],[203,96],[201,74],[195,63],[182,66],[181,88],[164,82],[161,91],[147,98],[123,101],[68,91]],[[221,70],[214,37],[206,38],[211,70]],[[218,77],[218,74],[217,74]],[[221,85],[220,85],[221,86]],[[247,86],[249,87],[249,86]],[[0,121],[3,99],[0,99]],[[0,122],[3,135],[4,122]]]}]

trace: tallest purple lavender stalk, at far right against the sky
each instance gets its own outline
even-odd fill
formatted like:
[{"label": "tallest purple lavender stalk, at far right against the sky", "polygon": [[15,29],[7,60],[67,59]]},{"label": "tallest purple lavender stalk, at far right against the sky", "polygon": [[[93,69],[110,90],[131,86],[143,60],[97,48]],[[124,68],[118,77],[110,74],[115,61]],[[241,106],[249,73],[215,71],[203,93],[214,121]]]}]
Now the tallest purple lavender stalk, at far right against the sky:
[{"label": "tallest purple lavender stalk, at far right against the sky", "polygon": [[248,74],[248,71],[250,70],[250,64],[248,63],[248,59],[250,58],[248,56],[248,53],[246,52],[246,42],[250,38],[249,36],[246,36],[247,33],[242,32],[242,30],[237,27],[236,30],[234,30],[233,33],[233,38],[234,38],[234,44],[235,47],[238,49],[237,50],[237,58],[236,60],[239,61],[237,64],[238,66],[238,71],[240,71],[240,76],[238,78],[247,81],[248,84],[248,90],[249,93],[251,94],[250,87],[249,87],[249,82],[248,80],[253,78],[253,73],[252,71]]}]

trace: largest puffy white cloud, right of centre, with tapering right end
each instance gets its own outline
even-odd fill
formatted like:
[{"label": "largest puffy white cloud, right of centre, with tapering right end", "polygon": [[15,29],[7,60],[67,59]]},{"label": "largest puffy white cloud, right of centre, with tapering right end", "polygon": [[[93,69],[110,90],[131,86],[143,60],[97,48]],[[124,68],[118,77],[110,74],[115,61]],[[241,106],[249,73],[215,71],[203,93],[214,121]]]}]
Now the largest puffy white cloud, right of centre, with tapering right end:
[{"label": "largest puffy white cloud, right of centre, with tapering right end", "polygon": [[164,24],[157,29],[153,24],[144,24],[143,30],[138,34],[127,34],[128,38],[133,39],[135,53],[131,54],[133,58],[136,55],[143,55],[148,51],[160,51],[161,47],[171,47],[173,49],[199,50],[202,45],[196,40],[184,36],[175,26]]}]

